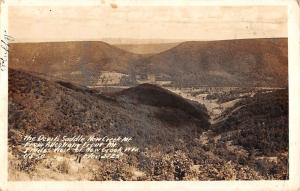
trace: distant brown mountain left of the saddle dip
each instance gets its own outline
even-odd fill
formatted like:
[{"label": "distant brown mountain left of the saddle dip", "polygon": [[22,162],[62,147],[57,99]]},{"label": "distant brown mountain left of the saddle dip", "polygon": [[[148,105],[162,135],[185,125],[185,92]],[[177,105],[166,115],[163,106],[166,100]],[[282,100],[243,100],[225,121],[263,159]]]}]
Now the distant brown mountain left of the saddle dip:
[{"label": "distant brown mountain left of the saddle dip", "polygon": [[126,73],[138,55],[104,42],[10,44],[10,67],[91,85],[101,71]]}]

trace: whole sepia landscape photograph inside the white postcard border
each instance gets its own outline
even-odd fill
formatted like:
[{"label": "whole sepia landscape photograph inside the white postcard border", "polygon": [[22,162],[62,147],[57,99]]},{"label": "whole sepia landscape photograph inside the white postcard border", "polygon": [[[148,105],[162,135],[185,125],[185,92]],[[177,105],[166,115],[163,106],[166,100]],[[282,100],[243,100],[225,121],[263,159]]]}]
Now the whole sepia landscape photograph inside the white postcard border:
[{"label": "whole sepia landscape photograph inside the white postcard border", "polygon": [[8,180],[288,181],[288,10],[8,6]]}]

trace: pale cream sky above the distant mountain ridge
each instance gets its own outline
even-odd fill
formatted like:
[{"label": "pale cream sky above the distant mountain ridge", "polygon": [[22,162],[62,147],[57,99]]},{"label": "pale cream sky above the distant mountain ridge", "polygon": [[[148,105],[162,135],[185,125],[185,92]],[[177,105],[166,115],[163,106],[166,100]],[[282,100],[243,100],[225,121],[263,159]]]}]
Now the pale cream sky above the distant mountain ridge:
[{"label": "pale cream sky above the distant mountain ridge", "polygon": [[112,44],[287,37],[284,6],[9,6],[15,42]]}]

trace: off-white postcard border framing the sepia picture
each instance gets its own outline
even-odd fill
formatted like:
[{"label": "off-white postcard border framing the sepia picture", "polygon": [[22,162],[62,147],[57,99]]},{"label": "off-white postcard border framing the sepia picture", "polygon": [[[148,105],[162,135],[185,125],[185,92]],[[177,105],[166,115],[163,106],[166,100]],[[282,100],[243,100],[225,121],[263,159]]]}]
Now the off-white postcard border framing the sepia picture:
[{"label": "off-white postcard border framing the sepia picture", "polygon": [[[66,5],[93,6],[100,0],[5,0],[1,6],[1,25],[7,29],[7,6],[14,5]],[[105,0],[128,6],[138,5],[191,5],[191,6],[241,6],[286,5],[288,6],[289,48],[289,180],[287,181],[152,181],[152,182],[90,182],[90,181],[7,181],[7,72],[0,73],[0,190],[300,190],[300,59],[299,59],[299,7],[296,0]],[[2,31],[1,29],[1,31]],[[1,34],[2,35],[2,34]],[[298,99],[297,99],[298,98]]]}]

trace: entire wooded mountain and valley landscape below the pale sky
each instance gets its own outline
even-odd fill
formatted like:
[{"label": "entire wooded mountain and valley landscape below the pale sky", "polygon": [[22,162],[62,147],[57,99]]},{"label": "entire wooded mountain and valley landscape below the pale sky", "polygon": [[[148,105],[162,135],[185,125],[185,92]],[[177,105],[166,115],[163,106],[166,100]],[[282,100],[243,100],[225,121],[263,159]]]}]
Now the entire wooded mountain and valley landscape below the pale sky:
[{"label": "entire wooded mountain and valley landscape below the pale sky", "polygon": [[[286,38],[12,43],[9,60],[10,180],[289,178]],[[28,134],[132,137],[139,149],[23,159]]]}]

